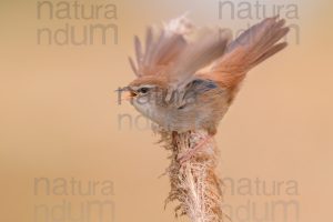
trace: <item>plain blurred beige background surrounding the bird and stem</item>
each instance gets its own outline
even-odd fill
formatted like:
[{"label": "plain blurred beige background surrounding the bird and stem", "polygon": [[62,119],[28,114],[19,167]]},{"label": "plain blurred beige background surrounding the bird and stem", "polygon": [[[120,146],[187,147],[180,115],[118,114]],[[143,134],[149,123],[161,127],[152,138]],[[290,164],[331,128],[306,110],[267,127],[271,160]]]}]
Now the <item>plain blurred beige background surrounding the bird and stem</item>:
[{"label": "plain blurred beige background surrounding the bird and stem", "polygon": [[[52,2],[56,7],[60,1]],[[169,164],[169,153],[154,144],[158,138],[132,107],[117,102],[114,90],[134,78],[127,59],[133,52],[133,34],[142,36],[148,24],[184,11],[200,26],[232,29],[260,19],[230,19],[230,13],[223,12],[221,20],[218,0],[78,2],[87,10],[91,4],[113,3],[118,19],[39,20],[38,1],[0,2],[0,221],[74,221],[87,201],[113,204],[102,221],[111,221],[111,215],[117,222],[175,221],[173,205],[163,210],[168,178],[158,179]],[[235,1],[234,7],[240,2],[245,1]],[[255,2],[248,3],[255,14]],[[233,209],[234,222],[330,221],[333,4],[329,0],[259,3],[266,6],[269,16],[274,4],[284,6],[282,17],[295,4],[299,18],[287,21],[299,27],[300,39],[292,32],[286,50],[250,73],[219,128],[220,172],[231,179],[225,182],[225,204]],[[37,43],[37,30],[44,27],[57,30],[69,23],[82,31],[83,26],[108,22],[118,27],[118,44]],[[129,119],[120,121],[123,114],[138,120],[137,127],[130,128]],[[36,188],[39,178],[49,181],[49,195],[46,183]],[[112,181],[113,190],[72,194],[72,178],[85,190],[92,181]],[[258,180],[264,186],[259,188],[260,193],[254,192]],[[240,189],[241,181],[251,181],[252,194],[231,192],[231,186]],[[296,191],[290,193],[291,183]],[[68,195],[52,190],[64,186]],[[63,201],[71,210],[57,206]],[[275,208],[290,201],[295,204],[286,212]],[[40,204],[44,210],[36,212]],[[49,220],[42,219],[46,214]],[[77,221],[99,220],[94,211],[91,218],[84,214]]]}]

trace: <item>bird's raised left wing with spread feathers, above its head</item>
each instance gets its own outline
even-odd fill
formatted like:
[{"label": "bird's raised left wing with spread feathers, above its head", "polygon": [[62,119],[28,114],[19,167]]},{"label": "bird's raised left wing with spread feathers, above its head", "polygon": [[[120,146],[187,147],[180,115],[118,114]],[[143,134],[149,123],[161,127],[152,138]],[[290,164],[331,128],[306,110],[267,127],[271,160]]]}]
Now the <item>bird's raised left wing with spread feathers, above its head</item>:
[{"label": "bird's raised left wing with spread feathers, above its head", "polygon": [[137,64],[129,58],[133,72],[140,78],[167,70],[186,48],[184,36],[191,28],[185,17],[171,20],[160,31],[153,31],[150,27],[147,29],[144,51],[140,39],[134,37]]}]

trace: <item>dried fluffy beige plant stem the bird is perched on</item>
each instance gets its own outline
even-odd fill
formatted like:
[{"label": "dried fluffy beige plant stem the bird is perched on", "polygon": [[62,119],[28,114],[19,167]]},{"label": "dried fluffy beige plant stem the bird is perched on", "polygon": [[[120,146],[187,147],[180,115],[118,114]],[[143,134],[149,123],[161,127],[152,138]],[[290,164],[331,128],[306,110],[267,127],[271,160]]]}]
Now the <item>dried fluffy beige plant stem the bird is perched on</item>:
[{"label": "dried fluffy beige plant stem the bird is perched on", "polygon": [[167,171],[171,191],[165,203],[179,201],[175,214],[188,215],[191,222],[222,221],[222,192],[216,175],[216,144],[210,139],[189,160],[179,158],[191,151],[208,137],[206,132],[161,132],[165,149],[171,150],[171,163]]}]

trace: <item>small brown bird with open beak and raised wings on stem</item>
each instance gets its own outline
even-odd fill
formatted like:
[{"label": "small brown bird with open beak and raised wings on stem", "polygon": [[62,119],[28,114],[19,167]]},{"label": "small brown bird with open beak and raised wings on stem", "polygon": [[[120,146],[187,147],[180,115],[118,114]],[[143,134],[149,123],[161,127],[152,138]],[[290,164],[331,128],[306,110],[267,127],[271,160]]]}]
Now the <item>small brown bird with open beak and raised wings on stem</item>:
[{"label": "small brown bird with open beak and raised wings on stem", "polygon": [[283,50],[289,28],[279,16],[263,19],[236,38],[230,29],[196,28],[186,17],[134,37],[137,75],[123,91],[144,117],[170,132],[205,131],[184,162],[216,134],[248,72]]}]

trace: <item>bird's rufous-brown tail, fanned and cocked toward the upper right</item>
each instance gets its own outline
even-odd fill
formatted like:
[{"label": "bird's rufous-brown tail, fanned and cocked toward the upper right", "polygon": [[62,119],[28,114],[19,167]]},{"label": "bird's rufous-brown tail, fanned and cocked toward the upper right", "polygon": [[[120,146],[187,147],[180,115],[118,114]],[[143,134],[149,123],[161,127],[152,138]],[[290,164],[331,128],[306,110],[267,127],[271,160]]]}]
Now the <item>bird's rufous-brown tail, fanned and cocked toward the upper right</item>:
[{"label": "bird's rufous-brown tail, fanned and cocked toward the upper right", "polygon": [[289,32],[284,23],[283,19],[274,17],[254,24],[232,41],[225,54],[198,77],[214,80],[226,88],[238,85],[250,69],[286,47],[286,42],[278,43]]}]

